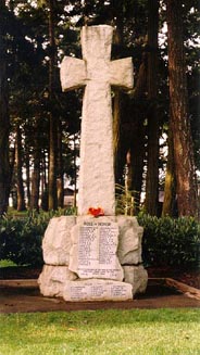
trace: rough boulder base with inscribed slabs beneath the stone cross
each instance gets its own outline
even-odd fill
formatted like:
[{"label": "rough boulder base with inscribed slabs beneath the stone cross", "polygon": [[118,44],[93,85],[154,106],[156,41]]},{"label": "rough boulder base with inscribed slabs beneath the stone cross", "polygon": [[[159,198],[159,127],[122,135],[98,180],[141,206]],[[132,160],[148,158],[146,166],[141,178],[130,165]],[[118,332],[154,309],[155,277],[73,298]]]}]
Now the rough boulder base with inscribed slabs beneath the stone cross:
[{"label": "rough boulder base with inscribed slabs beneath the stone cross", "polygon": [[139,265],[141,238],[135,217],[52,218],[42,242],[40,292],[70,302],[133,299],[146,291],[148,281]]}]

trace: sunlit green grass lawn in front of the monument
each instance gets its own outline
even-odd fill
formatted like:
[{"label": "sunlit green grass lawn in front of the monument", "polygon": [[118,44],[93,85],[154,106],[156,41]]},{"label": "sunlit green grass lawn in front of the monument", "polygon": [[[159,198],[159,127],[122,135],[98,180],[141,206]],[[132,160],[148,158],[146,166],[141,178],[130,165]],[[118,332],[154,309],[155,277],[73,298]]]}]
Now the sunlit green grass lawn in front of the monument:
[{"label": "sunlit green grass lawn in front of the monument", "polygon": [[1,355],[200,354],[200,309],[0,316]]}]

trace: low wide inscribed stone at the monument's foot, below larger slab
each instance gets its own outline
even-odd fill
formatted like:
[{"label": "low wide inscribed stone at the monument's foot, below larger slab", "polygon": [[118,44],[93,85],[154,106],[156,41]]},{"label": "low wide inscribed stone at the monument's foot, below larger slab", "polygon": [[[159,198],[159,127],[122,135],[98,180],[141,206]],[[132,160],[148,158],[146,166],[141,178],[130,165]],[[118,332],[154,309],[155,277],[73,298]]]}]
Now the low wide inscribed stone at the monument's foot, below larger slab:
[{"label": "low wide inscribed stone at the monument's foot, below larger slab", "polygon": [[132,284],[99,279],[67,281],[63,299],[70,302],[133,300]]}]

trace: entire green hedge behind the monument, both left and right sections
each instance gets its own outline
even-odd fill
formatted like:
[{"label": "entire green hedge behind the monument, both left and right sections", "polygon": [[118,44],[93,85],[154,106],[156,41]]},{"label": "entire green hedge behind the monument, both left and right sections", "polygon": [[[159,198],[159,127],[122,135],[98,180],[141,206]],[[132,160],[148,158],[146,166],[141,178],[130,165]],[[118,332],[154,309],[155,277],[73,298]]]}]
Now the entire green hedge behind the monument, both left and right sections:
[{"label": "entire green hedge behind the monument, both left and right sections", "polygon": [[[75,210],[36,211],[24,217],[0,219],[0,259],[17,265],[42,264],[41,240],[50,218],[75,214]],[[195,267],[199,263],[200,225],[189,217],[173,219],[140,213],[143,227],[142,257],[146,266]]]}]

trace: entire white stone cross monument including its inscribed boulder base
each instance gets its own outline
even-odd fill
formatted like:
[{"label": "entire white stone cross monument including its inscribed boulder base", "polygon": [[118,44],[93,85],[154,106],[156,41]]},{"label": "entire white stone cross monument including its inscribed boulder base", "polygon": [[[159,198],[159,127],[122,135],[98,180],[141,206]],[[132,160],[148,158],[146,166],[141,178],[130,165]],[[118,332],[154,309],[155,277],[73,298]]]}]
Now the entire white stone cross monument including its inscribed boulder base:
[{"label": "entire white stone cross monument including its inscribed boulder base", "polygon": [[111,61],[112,36],[108,25],[83,27],[83,60],[61,64],[63,91],[85,87],[78,213],[50,220],[38,283],[66,302],[132,300],[147,287],[143,230],[135,217],[115,216],[111,87],[133,88],[133,63]]}]

